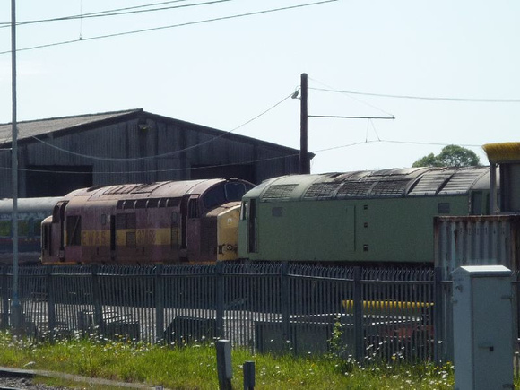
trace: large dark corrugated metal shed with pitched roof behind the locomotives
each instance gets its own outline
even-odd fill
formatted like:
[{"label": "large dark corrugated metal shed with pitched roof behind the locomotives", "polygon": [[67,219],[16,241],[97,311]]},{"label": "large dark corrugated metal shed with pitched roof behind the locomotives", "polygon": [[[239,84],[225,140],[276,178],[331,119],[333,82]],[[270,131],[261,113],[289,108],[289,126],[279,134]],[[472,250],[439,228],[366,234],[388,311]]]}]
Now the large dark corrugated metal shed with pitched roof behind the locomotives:
[{"label": "large dark corrugated metal shed with pitched roof behind the locomotives", "polygon": [[[267,178],[299,172],[299,151],[143,109],[20,122],[19,196],[87,186],[199,178]],[[0,148],[11,147],[0,125]],[[312,157],[312,155],[309,155]],[[0,197],[11,196],[11,153],[0,151]]]}]

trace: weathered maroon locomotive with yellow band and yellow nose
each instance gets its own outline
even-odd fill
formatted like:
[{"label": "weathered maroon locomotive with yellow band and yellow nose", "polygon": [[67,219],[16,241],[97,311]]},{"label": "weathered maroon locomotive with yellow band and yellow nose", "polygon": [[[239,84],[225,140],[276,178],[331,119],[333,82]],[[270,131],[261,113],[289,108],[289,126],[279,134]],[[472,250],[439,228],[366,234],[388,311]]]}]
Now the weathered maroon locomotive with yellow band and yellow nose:
[{"label": "weathered maroon locomotive with yellow band and yellow nose", "polygon": [[238,257],[239,179],[76,190],[42,222],[43,264],[214,263]]}]

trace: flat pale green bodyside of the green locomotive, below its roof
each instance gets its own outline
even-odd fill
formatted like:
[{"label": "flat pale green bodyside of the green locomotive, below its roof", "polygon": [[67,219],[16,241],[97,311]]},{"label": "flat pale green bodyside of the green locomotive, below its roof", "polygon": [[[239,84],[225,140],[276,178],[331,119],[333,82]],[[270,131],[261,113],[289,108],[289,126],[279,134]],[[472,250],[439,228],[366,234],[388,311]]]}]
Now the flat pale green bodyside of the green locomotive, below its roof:
[{"label": "flat pale green bodyside of the green locomotive, below its roof", "polygon": [[[449,204],[449,207],[448,207]],[[251,260],[433,262],[433,217],[468,213],[467,196],[274,202],[257,206]],[[240,247],[246,222],[241,221]],[[244,251],[240,252],[244,256]]]}]

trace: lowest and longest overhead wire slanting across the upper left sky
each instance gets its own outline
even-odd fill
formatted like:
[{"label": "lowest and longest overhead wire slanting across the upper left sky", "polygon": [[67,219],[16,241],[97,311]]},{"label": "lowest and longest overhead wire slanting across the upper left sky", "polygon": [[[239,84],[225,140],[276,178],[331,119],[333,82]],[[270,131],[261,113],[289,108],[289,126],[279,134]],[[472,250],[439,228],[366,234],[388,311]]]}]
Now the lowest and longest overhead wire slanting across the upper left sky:
[{"label": "lowest and longest overhead wire slanting across the upper left sky", "polygon": [[[230,19],[238,19],[238,18],[243,18],[243,17],[247,17],[247,16],[259,15],[259,14],[263,14],[263,13],[276,13],[276,12],[279,12],[279,11],[286,11],[286,10],[303,8],[303,7],[313,6],[313,5],[335,3],[335,2],[338,2],[338,1],[340,1],[340,0],[322,0],[322,1],[314,2],[314,3],[290,5],[290,6],[287,6],[287,7],[272,8],[272,9],[267,9],[267,10],[262,10],[262,11],[255,11],[255,12],[251,12],[251,13],[238,13],[238,14],[234,14],[234,15],[221,16],[221,17],[218,17],[218,18],[204,19],[204,20],[201,20],[201,21],[184,22],[184,23],[178,23],[178,24],[169,24],[167,26],[152,27],[152,28],[149,28],[149,29],[142,29],[142,30],[130,30],[130,31],[123,31],[123,32],[116,32],[116,33],[112,33],[112,34],[98,35],[98,36],[95,36],[95,37],[82,38],[82,39],[70,39],[70,40],[64,40],[64,41],[61,41],[61,42],[53,42],[53,43],[48,43],[48,44],[44,44],[44,45],[32,46],[32,47],[29,47],[29,48],[18,48],[16,51],[35,50],[35,49],[38,49],[38,48],[50,48],[50,47],[55,47],[55,46],[68,45],[68,44],[71,44],[71,43],[85,41],[85,40],[107,39],[107,38],[113,38],[113,37],[121,37],[121,36],[124,36],[124,35],[130,35],[130,34],[139,34],[139,33],[142,33],[142,32],[150,32],[150,31],[157,31],[157,30],[167,30],[167,29],[174,29],[174,28],[177,28],[177,27],[186,27],[186,26],[191,26],[191,25],[195,25],[195,24],[203,24],[203,23],[208,23],[208,22],[226,21],[226,20],[230,20]],[[1,51],[0,55],[4,55],[4,54],[8,54],[8,53],[11,53],[11,50]]]}]

